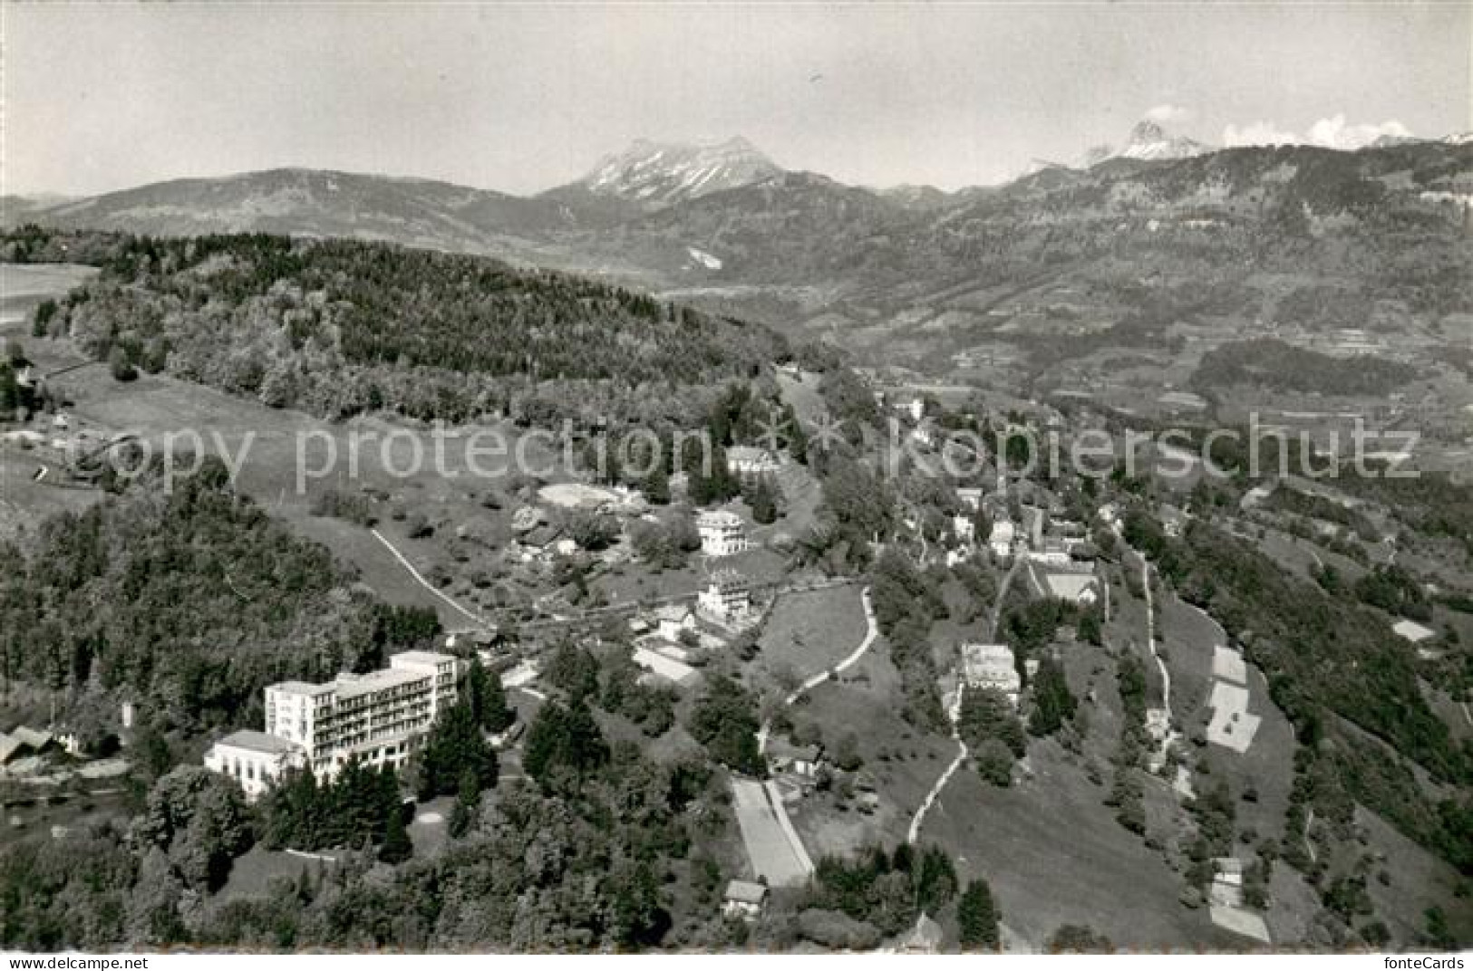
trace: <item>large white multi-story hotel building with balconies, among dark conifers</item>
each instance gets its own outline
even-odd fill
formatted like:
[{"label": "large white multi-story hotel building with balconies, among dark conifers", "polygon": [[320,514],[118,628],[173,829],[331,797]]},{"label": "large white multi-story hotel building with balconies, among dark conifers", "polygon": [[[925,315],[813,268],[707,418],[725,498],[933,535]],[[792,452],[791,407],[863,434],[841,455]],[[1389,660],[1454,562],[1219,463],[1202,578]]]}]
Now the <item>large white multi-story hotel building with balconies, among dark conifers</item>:
[{"label": "large white multi-story hotel building with balconies, among dark conifers", "polygon": [[240,780],[250,797],[289,767],[331,778],[356,756],[364,765],[398,769],[436,715],[455,703],[458,683],[460,661],[451,655],[407,650],[370,674],[339,674],[326,684],[271,684],[265,733],[227,736],[205,765]]}]

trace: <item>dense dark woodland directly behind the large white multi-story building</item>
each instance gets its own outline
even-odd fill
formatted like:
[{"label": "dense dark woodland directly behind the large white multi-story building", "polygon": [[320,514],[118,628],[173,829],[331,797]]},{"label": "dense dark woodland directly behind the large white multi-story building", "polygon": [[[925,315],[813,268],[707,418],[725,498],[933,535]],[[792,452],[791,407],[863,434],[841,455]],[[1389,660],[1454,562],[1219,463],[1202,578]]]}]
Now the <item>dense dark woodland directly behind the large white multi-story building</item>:
[{"label": "dense dark woodland directly behind the large white multi-story building", "polygon": [[370,671],[439,628],[234,494],[218,459],[172,494],[140,477],[53,516],[0,559],[0,674],[66,691],[84,737],[99,697],[186,734],[247,724],[265,684]]}]

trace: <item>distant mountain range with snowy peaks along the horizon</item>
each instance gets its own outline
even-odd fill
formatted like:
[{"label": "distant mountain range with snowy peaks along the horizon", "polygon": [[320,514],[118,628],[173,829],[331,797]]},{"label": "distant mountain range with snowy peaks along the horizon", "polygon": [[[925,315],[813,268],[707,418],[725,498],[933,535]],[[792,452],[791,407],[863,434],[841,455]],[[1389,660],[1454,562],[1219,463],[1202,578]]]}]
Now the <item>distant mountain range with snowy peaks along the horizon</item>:
[{"label": "distant mountain range with snowy peaks along the horizon", "polygon": [[[1087,165],[1000,187],[865,188],[785,171],[751,143],[636,141],[583,178],[520,197],[418,178],[273,169],[88,199],[6,197],[3,222],[152,235],[259,231],[387,240],[576,271],[790,332],[856,331],[956,293],[1103,266],[1134,247],[1173,274],[1218,274],[1293,234],[1324,272],[1373,246],[1358,228],[1439,227],[1466,244],[1473,144],[1396,141],[1214,150],[1142,122]],[[1391,222],[1388,222],[1391,221]],[[1398,224],[1399,225],[1399,224]],[[1147,231],[1149,227],[1149,231]],[[1298,237],[1296,237],[1298,238]],[[1464,246],[1466,249],[1466,246]],[[1324,250],[1324,252],[1320,252]],[[1367,257],[1368,259],[1368,257]],[[1224,262],[1226,260],[1226,262]],[[969,310],[971,312],[971,310]],[[876,341],[881,343],[881,341]]]}]

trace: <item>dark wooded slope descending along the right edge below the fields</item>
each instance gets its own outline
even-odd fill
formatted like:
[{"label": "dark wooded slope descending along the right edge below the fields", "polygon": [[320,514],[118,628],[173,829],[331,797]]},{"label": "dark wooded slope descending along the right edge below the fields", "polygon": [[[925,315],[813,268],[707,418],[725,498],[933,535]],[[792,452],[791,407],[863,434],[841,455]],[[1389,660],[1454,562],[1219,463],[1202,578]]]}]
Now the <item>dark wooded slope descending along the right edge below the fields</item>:
[{"label": "dark wooded slope descending along the right edge below the fields", "polygon": [[[1352,800],[1464,872],[1473,871],[1473,752],[1451,737],[1417,686],[1413,653],[1360,606],[1295,580],[1251,546],[1193,524],[1168,538],[1140,512],[1125,537],[1184,599],[1209,611],[1268,678],[1302,744],[1299,811],[1348,824]],[[1430,774],[1433,797],[1418,781]]]}]

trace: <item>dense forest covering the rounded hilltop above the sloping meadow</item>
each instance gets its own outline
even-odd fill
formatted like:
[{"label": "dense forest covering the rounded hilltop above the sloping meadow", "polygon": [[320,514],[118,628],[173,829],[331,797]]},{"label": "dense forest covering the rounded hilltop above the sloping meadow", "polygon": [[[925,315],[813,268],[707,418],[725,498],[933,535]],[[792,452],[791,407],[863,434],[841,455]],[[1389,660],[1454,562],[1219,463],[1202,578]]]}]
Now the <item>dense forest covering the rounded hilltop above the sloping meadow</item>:
[{"label": "dense forest covering the rounded hilltop above the sloping meadow", "polygon": [[477,256],[275,235],[65,238],[62,252],[28,227],[0,243],[102,266],[37,335],[69,334],[118,375],[168,372],[326,418],[682,425],[709,410],[710,385],[790,353],[764,327]]}]

